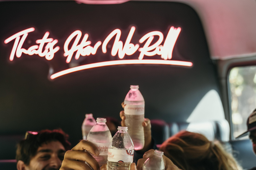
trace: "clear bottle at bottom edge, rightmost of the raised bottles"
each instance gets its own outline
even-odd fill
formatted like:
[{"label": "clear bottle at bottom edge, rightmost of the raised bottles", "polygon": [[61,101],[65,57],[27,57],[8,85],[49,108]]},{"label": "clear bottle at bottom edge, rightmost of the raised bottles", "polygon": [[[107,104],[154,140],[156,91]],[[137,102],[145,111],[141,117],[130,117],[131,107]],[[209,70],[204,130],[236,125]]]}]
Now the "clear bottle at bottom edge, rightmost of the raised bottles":
[{"label": "clear bottle at bottom edge, rightmost of the raised bottles", "polygon": [[163,154],[164,152],[155,150],[154,155],[144,162],[142,170],[164,170]]}]

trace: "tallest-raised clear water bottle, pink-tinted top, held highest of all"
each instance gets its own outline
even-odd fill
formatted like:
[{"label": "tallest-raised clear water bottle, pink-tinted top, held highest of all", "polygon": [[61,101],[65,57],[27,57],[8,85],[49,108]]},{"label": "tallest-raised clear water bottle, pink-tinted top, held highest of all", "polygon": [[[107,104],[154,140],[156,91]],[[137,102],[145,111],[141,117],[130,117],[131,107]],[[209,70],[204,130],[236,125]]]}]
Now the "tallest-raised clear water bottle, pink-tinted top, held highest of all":
[{"label": "tallest-raised clear water bottle, pink-tinted top, held highest of all", "polygon": [[134,150],[141,150],[145,143],[142,127],[145,101],[138,85],[131,85],[130,88],[124,99],[125,125],[128,127],[128,133],[132,138]]}]

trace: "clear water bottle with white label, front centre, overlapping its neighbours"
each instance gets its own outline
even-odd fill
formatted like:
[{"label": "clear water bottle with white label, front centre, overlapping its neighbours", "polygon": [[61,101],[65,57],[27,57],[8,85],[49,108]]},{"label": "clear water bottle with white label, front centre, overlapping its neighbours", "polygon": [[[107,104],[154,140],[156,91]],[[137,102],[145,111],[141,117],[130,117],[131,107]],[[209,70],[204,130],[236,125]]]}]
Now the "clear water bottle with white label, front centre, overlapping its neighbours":
[{"label": "clear water bottle with white label, front centre, overlapping its neighbours", "polygon": [[134,145],[127,127],[119,126],[108,148],[108,170],[129,170],[133,162]]}]

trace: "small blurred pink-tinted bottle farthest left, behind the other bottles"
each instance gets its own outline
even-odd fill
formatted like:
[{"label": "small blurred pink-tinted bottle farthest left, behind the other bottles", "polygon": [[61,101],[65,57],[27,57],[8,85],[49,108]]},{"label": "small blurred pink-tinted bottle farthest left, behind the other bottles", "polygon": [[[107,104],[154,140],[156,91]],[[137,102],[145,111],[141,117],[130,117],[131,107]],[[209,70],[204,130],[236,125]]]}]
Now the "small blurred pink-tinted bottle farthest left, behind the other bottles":
[{"label": "small blurred pink-tinted bottle farthest left, behind the other bottles", "polygon": [[89,131],[95,124],[96,121],[93,118],[92,114],[85,114],[85,119],[82,124],[82,135],[84,140],[87,140],[87,135],[89,134]]}]

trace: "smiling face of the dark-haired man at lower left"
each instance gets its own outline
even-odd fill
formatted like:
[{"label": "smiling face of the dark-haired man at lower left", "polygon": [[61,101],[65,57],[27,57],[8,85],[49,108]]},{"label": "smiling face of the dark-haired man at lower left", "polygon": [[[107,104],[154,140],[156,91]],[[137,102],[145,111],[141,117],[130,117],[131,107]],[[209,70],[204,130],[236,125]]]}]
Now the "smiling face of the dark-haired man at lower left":
[{"label": "smiling face of the dark-haired man at lower left", "polygon": [[38,147],[26,170],[59,170],[65,148],[59,141],[51,141]]}]

